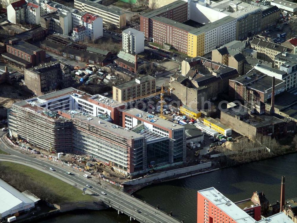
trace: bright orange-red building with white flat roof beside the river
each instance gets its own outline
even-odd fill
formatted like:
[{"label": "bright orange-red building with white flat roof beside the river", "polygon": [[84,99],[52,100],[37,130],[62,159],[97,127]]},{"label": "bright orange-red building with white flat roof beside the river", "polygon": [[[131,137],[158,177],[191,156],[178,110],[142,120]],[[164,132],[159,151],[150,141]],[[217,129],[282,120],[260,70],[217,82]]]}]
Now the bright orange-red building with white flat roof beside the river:
[{"label": "bright orange-red building with white flat roof beside the river", "polygon": [[197,223],[219,222],[220,219],[233,223],[292,223],[292,220],[282,212],[260,220],[259,209],[260,206],[252,208],[254,213],[257,213],[257,216],[254,214],[255,218],[252,218],[245,210],[242,210],[214,187],[197,192]]}]

